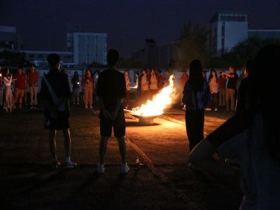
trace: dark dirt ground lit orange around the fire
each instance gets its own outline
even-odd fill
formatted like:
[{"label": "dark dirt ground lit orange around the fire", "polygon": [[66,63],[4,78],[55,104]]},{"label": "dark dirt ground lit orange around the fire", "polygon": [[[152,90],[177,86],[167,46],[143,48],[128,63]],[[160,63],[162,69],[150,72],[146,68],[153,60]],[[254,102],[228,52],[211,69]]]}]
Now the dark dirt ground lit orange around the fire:
[{"label": "dark dirt ground lit orange around the fire", "polygon": [[[222,116],[222,117],[221,117]],[[229,116],[207,113],[205,132]],[[238,209],[239,169],[207,174],[187,167],[188,139],[183,111],[169,110],[154,125],[127,120],[127,163],[120,174],[115,138],[109,140],[106,170],[96,172],[97,114],[71,107],[71,158],[76,169],[51,169],[48,133],[41,111],[0,112],[1,209]],[[64,162],[62,134],[57,155]],[[137,169],[136,158],[143,166]]]}]

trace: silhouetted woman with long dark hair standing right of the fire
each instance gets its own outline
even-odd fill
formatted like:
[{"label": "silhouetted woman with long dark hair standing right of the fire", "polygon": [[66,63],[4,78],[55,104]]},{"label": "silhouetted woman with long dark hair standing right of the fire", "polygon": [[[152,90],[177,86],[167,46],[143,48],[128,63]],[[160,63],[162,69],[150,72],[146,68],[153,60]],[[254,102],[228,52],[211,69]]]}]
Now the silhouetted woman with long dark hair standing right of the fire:
[{"label": "silhouetted woman with long dark hair standing right of the fire", "polygon": [[204,139],[204,109],[211,101],[207,80],[203,77],[200,60],[190,62],[190,77],[183,90],[182,103],[186,104],[186,130],[190,151]]}]

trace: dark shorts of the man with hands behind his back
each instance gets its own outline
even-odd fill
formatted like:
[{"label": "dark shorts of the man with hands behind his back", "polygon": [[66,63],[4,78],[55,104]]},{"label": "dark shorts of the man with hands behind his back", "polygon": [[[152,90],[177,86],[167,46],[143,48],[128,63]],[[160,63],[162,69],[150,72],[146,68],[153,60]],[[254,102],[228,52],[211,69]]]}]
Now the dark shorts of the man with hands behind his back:
[{"label": "dark shorts of the man with hands behind his back", "polygon": [[123,111],[118,112],[116,120],[112,121],[109,118],[100,116],[100,134],[102,137],[111,137],[112,127],[115,137],[125,136],[125,114]]}]

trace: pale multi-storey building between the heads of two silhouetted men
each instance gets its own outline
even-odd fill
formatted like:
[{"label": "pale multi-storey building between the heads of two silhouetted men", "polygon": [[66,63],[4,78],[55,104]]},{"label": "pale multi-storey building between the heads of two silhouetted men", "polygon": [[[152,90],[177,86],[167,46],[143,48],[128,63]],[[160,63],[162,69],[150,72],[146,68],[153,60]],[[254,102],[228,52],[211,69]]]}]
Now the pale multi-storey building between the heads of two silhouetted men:
[{"label": "pale multi-storey building between the heads of two silhouetted men", "polygon": [[107,34],[104,33],[67,33],[67,50],[73,52],[73,63],[107,64]]}]

